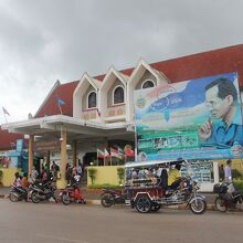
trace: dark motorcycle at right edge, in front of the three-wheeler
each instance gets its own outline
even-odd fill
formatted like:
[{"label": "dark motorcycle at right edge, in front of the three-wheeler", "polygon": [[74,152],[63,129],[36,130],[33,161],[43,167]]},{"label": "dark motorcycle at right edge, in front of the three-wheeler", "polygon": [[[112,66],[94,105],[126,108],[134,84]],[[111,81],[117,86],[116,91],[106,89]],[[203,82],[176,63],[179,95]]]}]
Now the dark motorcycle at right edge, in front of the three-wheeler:
[{"label": "dark motorcycle at right edge, in front of the three-wheeler", "polygon": [[229,209],[236,209],[243,203],[243,194],[237,192],[232,182],[216,183],[213,192],[218,193],[214,205],[220,212],[226,212]]}]

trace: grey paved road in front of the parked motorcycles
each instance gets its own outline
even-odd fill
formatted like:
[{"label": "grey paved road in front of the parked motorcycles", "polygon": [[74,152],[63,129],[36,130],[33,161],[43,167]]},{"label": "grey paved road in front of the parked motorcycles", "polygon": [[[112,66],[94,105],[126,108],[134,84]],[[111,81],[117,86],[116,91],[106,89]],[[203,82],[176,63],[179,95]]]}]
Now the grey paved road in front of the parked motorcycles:
[{"label": "grey paved road in front of the parked motorcycles", "polygon": [[241,242],[242,212],[160,210],[0,200],[1,243]]}]

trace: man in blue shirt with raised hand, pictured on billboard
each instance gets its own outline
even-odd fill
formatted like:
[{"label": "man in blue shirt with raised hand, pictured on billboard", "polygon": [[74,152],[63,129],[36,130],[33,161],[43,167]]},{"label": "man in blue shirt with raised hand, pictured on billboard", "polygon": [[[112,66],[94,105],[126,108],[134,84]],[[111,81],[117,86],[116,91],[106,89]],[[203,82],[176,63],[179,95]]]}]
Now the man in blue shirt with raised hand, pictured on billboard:
[{"label": "man in blue shirt with raised hand, pictured on billboard", "polygon": [[198,130],[201,141],[219,148],[243,146],[242,113],[234,83],[225,77],[209,83],[205,106],[210,116]]}]

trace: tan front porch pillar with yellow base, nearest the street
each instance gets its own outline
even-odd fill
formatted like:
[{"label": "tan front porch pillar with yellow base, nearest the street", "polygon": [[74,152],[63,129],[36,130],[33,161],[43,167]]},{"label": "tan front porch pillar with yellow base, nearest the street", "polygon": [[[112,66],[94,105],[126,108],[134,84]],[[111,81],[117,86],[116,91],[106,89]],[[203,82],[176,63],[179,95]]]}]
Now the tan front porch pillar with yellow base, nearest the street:
[{"label": "tan front porch pillar with yellow base, nearest the street", "polygon": [[66,131],[61,131],[61,178],[57,181],[57,188],[66,187]]}]

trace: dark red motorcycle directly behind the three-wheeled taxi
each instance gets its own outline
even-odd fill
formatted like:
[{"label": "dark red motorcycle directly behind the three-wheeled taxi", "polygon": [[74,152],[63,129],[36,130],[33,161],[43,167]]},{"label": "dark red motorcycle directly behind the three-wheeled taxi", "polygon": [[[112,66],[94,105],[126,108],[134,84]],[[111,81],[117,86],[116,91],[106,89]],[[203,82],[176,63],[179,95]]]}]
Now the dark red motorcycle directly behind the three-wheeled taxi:
[{"label": "dark red motorcycle directly behind the three-wheeled taxi", "polygon": [[112,190],[103,189],[101,194],[101,203],[105,208],[109,208],[114,204],[129,204],[129,189],[122,190]]}]

